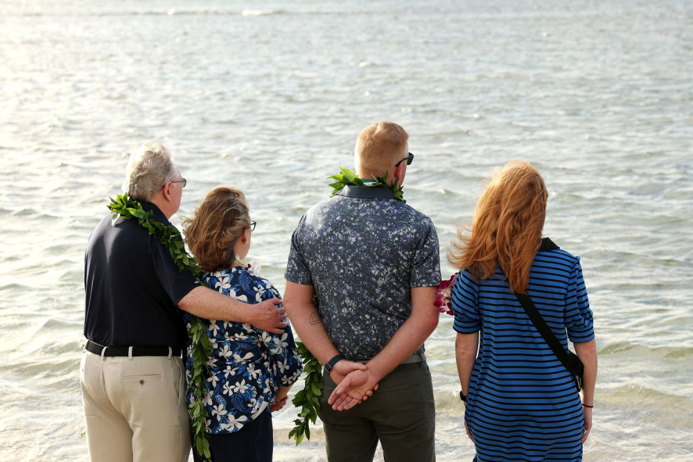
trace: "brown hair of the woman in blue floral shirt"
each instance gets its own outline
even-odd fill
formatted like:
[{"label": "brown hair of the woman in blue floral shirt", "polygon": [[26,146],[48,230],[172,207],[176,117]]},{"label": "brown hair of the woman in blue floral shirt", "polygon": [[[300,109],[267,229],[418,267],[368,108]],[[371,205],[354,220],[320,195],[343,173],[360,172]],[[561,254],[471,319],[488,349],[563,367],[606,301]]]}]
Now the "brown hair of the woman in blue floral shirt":
[{"label": "brown hair of the woman in blue floral shirt", "polygon": [[207,272],[234,266],[234,246],[250,226],[250,209],[243,191],[219,186],[204,196],[192,218],[184,218],[185,242]]}]

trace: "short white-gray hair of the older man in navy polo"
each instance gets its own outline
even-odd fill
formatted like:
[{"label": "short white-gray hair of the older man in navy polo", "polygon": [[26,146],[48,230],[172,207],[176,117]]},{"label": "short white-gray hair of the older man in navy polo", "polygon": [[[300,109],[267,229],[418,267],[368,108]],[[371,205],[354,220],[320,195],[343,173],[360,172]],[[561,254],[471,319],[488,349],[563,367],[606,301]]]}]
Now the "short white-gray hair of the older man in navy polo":
[{"label": "short white-gray hair of the older man in navy polo", "polygon": [[137,201],[148,201],[156,190],[178,175],[173,154],[161,144],[144,143],[125,167],[125,192]]}]

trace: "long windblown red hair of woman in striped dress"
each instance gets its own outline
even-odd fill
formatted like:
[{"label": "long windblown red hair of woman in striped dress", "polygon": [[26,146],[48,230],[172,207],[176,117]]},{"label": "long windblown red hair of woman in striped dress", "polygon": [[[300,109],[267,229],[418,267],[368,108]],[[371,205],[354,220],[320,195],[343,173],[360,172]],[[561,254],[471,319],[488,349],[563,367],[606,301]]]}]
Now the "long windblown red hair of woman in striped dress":
[{"label": "long windblown red hair of woman in striped dress", "polygon": [[532,164],[511,161],[496,170],[479,199],[471,232],[457,229],[457,241],[448,249],[450,265],[468,268],[477,279],[490,278],[500,267],[510,290],[524,294],[541,247],[546,199],[544,180]]}]

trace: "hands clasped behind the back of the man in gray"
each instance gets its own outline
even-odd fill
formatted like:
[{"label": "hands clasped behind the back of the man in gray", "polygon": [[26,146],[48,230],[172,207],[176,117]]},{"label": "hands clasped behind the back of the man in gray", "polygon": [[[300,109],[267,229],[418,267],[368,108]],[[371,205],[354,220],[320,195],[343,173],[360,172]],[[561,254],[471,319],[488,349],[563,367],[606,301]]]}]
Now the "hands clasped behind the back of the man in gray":
[{"label": "hands clasped behind the back of the man in gray", "polygon": [[333,366],[330,377],[337,384],[337,388],[327,403],[332,405],[335,411],[344,411],[359,405],[369,396],[373,396],[373,392],[378,389],[376,376],[368,370],[368,366],[358,362],[342,359]]}]

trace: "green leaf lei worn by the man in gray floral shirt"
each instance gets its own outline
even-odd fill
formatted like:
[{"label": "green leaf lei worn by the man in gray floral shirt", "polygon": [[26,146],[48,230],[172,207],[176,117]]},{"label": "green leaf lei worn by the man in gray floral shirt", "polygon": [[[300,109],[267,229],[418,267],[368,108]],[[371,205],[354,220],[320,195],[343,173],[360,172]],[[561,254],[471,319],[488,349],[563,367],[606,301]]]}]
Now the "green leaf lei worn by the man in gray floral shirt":
[{"label": "green leaf lei worn by the man in gray floral shirt", "polygon": [[[337,195],[337,193],[347,185],[369,187],[385,186],[392,191],[392,196],[395,200],[403,204],[407,203],[407,201],[404,200],[402,186],[397,186],[396,179],[388,183],[387,174],[385,174],[385,177],[374,177],[374,181],[366,183],[348,168],[340,167],[340,173],[332,175],[328,177],[328,179],[333,179],[335,181],[330,184],[333,188],[331,197]],[[319,301],[317,297],[313,297],[313,304],[315,308],[319,310]],[[304,436],[306,439],[310,440],[310,422],[315,424],[315,420],[317,419],[317,409],[320,408],[319,397],[322,395],[322,364],[320,364],[315,356],[313,356],[313,353],[310,353],[310,350],[300,341],[297,342],[297,346],[299,355],[301,355],[301,361],[304,363],[304,372],[307,373],[307,375],[304,389],[296,393],[296,396],[291,401],[296,407],[301,407],[301,412],[299,413],[299,418],[294,420],[296,426],[289,432],[289,438],[294,438],[296,445],[299,445],[301,441],[304,440]]]}]

